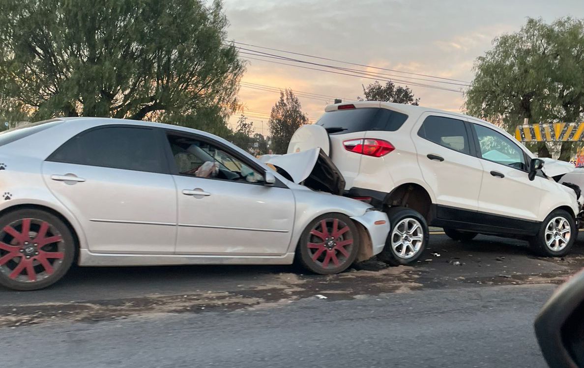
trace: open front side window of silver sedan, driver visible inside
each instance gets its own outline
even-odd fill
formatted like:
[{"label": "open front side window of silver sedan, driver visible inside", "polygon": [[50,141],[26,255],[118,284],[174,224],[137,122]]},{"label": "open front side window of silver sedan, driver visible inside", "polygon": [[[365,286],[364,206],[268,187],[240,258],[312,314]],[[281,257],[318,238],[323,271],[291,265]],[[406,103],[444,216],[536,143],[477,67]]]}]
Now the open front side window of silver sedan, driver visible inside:
[{"label": "open front side window of silver sedan, driver visible inside", "polygon": [[197,178],[263,182],[263,175],[216,145],[170,134],[172,155],[180,175]]}]

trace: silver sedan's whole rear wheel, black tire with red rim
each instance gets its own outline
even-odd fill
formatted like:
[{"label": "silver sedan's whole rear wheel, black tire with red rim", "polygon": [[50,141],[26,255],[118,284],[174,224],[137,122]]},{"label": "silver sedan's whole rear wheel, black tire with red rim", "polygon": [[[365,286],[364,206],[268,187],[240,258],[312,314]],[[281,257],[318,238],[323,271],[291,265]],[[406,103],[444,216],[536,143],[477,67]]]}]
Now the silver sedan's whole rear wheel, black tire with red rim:
[{"label": "silver sedan's whole rear wheel, black tire with red rim", "polygon": [[0,217],[0,242],[0,285],[14,290],[54,284],[75,258],[71,231],[46,211],[22,209]]}]

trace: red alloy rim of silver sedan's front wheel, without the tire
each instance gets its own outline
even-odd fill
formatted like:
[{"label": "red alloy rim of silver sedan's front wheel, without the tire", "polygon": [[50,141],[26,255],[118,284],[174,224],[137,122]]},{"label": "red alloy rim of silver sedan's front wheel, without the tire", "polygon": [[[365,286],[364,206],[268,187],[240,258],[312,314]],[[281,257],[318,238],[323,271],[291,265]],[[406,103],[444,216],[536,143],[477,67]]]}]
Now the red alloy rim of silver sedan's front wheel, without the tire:
[{"label": "red alloy rim of silver sedan's front wheel, without the tire", "polygon": [[308,254],[314,263],[324,269],[344,265],[353,248],[350,227],[338,218],[325,218],[312,227],[308,241]]}]

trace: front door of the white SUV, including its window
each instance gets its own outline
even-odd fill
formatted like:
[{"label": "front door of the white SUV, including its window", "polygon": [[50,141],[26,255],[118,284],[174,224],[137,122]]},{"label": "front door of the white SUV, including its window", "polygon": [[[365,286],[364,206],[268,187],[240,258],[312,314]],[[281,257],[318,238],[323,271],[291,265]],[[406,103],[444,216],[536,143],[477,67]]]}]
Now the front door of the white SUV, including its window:
[{"label": "front door of the white SUV, including its window", "polygon": [[483,167],[479,211],[501,216],[502,221],[508,217],[537,221],[541,178],[529,180],[525,152],[502,133],[482,124],[471,125]]}]

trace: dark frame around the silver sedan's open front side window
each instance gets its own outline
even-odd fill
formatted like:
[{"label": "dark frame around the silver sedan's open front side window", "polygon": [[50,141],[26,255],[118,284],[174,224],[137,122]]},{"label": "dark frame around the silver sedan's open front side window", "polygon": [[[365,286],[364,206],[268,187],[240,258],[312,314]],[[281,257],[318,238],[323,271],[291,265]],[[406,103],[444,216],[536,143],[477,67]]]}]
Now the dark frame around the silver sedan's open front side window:
[{"label": "dark frame around the silver sedan's open front side window", "polygon": [[[229,182],[229,183],[242,183],[242,184],[251,184],[251,185],[266,186],[266,183],[265,182],[252,183],[252,182],[248,182],[246,180],[245,181],[240,181],[240,180],[237,180],[236,181],[236,180],[220,179],[220,178],[204,178],[204,177],[200,177],[200,176],[194,176],[194,175],[180,173],[179,172],[179,169],[178,169],[178,166],[176,165],[175,156],[172,154],[171,143],[168,140],[168,136],[169,135],[182,136],[182,137],[185,137],[185,138],[190,138],[190,139],[194,139],[194,140],[200,140],[200,141],[203,141],[204,143],[207,143],[207,144],[213,144],[213,145],[217,146],[217,148],[219,148],[220,150],[223,150],[227,154],[229,154],[232,157],[234,157],[234,158],[238,159],[239,161],[241,161],[242,164],[248,165],[249,168],[255,170],[258,173],[263,173],[264,176],[265,176],[265,173],[267,172],[267,169],[264,168],[261,165],[258,165],[256,162],[253,162],[253,160],[250,160],[249,158],[245,157],[244,155],[240,154],[239,152],[233,150],[227,144],[224,144],[224,143],[222,143],[220,141],[214,140],[213,138],[204,136],[202,134],[190,133],[188,131],[174,130],[174,129],[162,129],[161,134],[164,136],[165,145],[164,145],[164,148],[163,149],[164,149],[164,152],[165,152],[166,161],[167,161],[168,166],[170,168],[171,175],[185,176],[186,178],[194,178],[194,179],[221,180],[223,182]],[[276,188],[286,188],[286,189],[288,189],[288,186],[286,186],[286,184],[284,184],[283,182],[281,182],[281,180],[279,178],[276,178],[276,182],[275,183],[273,183],[272,185],[267,185],[267,186],[273,186],[273,187],[276,187]]]}]

